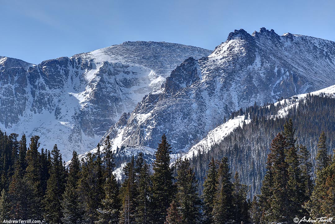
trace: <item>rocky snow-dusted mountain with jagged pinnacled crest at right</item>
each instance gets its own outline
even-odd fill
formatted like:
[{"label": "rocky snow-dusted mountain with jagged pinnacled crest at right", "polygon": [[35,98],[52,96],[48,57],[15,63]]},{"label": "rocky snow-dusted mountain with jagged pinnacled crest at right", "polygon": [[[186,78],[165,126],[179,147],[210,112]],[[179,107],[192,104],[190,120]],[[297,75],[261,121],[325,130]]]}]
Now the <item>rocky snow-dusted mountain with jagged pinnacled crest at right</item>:
[{"label": "rocky snow-dusted mountain with jagged pinnacled crest at right", "polygon": [[109,134],[117,146],[156,148],[166,133],[174,153],[187,152],[232,111],[335,84],[335,43],[261,28],[235,30],[208,57],[188,58],[123,114]]}]

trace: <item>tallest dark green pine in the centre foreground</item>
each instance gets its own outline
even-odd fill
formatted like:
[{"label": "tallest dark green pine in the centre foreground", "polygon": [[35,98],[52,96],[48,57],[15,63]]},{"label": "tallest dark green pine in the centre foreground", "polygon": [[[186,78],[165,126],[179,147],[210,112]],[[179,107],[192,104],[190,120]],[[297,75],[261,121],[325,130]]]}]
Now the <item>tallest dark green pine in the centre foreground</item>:
[{"label": "tallest dark green pine in the centre foreground", "polygon": [[166,209],[170,206],[175,191],[172,183],[173,170],[170,168],[170,152],[171,146],[163,134],[155,152],[156,160],[153,163],[152,176],[153,219],[157,224],[164,223]]}]

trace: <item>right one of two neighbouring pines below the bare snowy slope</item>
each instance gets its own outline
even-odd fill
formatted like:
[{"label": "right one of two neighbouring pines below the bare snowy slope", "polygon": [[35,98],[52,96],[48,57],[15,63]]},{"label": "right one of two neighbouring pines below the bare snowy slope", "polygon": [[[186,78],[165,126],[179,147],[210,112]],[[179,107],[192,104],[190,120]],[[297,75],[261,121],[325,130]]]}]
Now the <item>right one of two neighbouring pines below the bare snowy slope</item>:
[{"label": "right one of two neighbouring pines below the bare snowy slope", "polygon": [[217,172],[217,184],[213,206],[214,223],[223,224],[231,220],[231,173],[229,172],[228,159],[223,157]]}]

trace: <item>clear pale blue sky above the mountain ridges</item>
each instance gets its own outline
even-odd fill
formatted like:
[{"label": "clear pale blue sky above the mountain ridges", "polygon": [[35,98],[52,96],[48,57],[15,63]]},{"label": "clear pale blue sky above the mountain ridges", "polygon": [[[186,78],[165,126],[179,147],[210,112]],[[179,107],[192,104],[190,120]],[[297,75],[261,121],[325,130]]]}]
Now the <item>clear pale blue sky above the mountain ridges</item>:
[{"label": "clear pale blue sky above the mountain ridges", "polygon": [[260,27],[335,41],[334,2],[0,0],[0,55],[40,63],[136,40],[214,49]]}]

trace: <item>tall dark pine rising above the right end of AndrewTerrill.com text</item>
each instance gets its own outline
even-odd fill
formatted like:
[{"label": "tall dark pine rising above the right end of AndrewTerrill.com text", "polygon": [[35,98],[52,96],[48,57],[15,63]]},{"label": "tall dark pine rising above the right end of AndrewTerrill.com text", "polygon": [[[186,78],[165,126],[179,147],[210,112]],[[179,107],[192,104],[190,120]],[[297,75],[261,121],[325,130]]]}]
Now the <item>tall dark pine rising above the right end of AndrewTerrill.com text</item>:
[{"label": "tall dark pine rising above the right end of AndrewTerrill.com text", "polygon": [[41,184],[41,164],[38,148],[40,137],[34,135],[30,138],[29,149],[26,153],[27,168],[25,170],[24,181],[28,189],[26,193],[28,204],[28,219],[42,219],[42,197],[43,190]]}]

